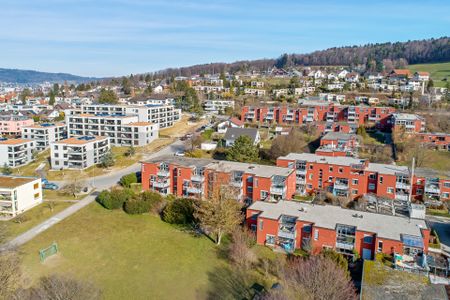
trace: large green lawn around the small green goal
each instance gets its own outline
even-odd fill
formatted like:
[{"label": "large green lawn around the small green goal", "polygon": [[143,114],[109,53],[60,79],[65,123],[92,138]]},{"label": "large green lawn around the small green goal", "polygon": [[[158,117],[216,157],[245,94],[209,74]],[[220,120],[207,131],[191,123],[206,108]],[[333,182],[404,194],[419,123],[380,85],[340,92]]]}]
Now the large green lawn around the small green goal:
[{"label": "large green lawn around the small green goal", "polygon": [[[39,262],[38,250],[57,242],[59,254]],[[105,299],[204,299],[219,289],[228,265],[216,246],[152,215],[131,216],[93,203],[25,244],[24,272],[91,280]],[[223,272],[226,274],[226,272]]]}]

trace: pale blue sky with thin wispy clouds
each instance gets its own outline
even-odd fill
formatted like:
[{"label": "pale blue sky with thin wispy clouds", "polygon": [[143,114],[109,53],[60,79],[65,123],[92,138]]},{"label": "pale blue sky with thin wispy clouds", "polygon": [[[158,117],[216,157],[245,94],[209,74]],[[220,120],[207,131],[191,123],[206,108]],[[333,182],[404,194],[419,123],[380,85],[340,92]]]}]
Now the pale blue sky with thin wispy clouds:
[{"label": "pale blue sky with thin wispy clouds", "polygon": [[0,67],[119,76],[450,34],[449,1],[2,0]]}]

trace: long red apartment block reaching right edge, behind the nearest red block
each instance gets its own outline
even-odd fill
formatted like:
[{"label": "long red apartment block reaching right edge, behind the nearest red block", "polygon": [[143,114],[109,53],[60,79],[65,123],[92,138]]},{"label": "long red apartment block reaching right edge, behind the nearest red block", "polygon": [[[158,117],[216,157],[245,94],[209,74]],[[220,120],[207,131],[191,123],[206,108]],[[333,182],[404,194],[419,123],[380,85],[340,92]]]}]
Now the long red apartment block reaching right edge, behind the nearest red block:
[{"label": "long red apartment block reaching right edge, behind the nearest red block", "polygon": [[[332,157],[311,153],[290,153],[277,159],[277,166],[296,173],[297,194],[327,190],[335,196],[355,199],[364,194],[408,201],[411,172],[406,166],[369,163],[353,157]],[[412,197],[449,200],[450,174],[418,168]],[[428,187],[427,189],[425,189]]]}]

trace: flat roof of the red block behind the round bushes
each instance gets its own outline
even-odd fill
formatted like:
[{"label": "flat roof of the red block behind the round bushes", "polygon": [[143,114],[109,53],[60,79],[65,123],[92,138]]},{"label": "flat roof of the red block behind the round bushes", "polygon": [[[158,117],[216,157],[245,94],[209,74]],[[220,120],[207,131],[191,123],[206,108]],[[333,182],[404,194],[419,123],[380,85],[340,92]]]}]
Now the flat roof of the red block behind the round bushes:
[{"label": "flat roof of the red block behind the round bushes", "polygon": [[250,163],[240,163],[225,160],[214,160],[191,157],[159,156],[145,161],[144,163],[168,163],[183,167],[196,167],[214,170],[216,172],[229,173],[241,171],[247,174],[254,174],[258,177],[289,176],[294,170],[289,168],[266,166]]}]

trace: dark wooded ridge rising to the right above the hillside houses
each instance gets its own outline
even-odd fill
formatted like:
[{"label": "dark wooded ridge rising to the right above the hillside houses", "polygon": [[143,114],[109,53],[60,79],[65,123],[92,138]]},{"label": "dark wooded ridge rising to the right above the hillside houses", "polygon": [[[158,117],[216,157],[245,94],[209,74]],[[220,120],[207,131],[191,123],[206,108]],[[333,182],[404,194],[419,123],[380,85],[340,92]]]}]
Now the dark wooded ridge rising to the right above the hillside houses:
[{"label": "dark wooded ridge rising to the right above the hillside houses", "polygon": [[218,73],[238,70],[263,71],[273,66],[354,66],[365,65],[371,69],[403,67],[406,64],[450,62],[450,38],[416,40],[408,42],[367,44],[363,46],[335,47],[309,54],[284,54],[277,59],[211,63],[157,72],[163,76],[191,76],[201,73]]}]

